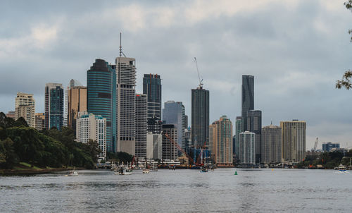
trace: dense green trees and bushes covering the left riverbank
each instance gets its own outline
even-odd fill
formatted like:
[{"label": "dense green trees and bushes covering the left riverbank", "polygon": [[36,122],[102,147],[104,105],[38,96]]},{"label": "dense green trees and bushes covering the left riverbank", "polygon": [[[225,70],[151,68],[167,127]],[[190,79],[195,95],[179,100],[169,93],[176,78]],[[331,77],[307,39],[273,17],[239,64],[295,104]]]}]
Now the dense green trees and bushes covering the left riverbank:
[{"label": "dense green trees and bushes covering the left riverbank", "polygon": [[99,146],[75,141],[72,129],[38,131],[24,118],[0,113],[0,174],[38,174],[70,168],[94,169]]}]

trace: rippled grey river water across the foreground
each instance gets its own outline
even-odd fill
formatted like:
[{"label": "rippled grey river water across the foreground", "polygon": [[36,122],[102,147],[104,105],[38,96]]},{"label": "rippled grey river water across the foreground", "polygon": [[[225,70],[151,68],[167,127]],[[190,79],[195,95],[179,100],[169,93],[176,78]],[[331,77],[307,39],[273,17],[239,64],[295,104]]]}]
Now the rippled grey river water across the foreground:
[{"label": "rippled grey river water across the foreground", "polygon": [[352,171],[79,172],[0,177],[0,212],[352,212]]}]

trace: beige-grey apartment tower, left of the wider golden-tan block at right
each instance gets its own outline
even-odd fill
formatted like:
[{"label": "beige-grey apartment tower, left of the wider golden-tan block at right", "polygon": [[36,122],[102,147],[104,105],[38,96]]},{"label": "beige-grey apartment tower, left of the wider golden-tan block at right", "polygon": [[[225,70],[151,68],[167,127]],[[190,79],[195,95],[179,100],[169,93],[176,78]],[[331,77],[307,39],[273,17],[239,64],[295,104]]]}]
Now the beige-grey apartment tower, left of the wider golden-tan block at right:
[{"label": "beige-grey apartment tower, left of the wider golden-tan block at right", "polygon": [[279,126],[264,126],[261,135],[261,162],[264,164],[278,163],[282,160],[282,129]]}]

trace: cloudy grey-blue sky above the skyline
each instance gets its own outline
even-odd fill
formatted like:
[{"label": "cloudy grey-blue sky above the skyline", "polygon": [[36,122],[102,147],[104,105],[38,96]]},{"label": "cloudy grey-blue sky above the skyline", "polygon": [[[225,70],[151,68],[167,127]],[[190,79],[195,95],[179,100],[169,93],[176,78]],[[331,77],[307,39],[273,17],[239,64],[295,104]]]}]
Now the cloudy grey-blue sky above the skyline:
[{"label": "cloudy grey-blue sky above the skyline", "polygon": [[210,122],[241,114],[241,75],[255,76],[263,126],[307,121],[307,150],[321,142],[352,146],[352,91],[335,81],[352,68],[344,0],[1,1],[0,111],[18,91],[44,111],[45,83],[86,85],[95,59],[123,51],[142,75],[163,78],[163,102],[184,102],[198,85],[196,56],[210,90]]}]

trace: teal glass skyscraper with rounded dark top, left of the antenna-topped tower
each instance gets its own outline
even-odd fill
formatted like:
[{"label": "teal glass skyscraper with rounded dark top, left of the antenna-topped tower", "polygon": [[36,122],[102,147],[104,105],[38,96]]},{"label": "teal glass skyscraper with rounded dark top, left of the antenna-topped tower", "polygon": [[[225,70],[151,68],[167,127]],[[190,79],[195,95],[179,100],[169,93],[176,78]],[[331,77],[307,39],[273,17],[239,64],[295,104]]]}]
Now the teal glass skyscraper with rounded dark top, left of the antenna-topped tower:
[{"label": "teal glass skyscraper with rounded dark top, left of the antenna-topped tower", "polygon": [[87,111],[106,118],[106,150],[116,147],[116,73],[115,66],[96,59],[87,71]]}]

